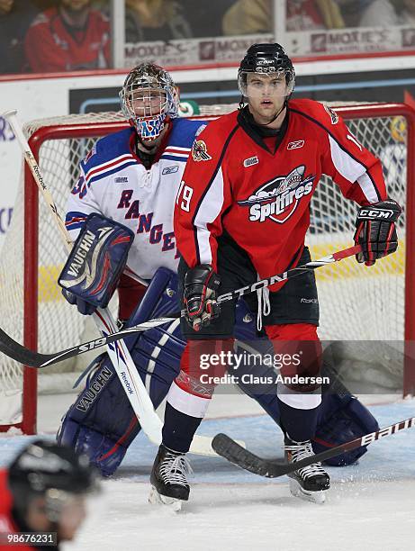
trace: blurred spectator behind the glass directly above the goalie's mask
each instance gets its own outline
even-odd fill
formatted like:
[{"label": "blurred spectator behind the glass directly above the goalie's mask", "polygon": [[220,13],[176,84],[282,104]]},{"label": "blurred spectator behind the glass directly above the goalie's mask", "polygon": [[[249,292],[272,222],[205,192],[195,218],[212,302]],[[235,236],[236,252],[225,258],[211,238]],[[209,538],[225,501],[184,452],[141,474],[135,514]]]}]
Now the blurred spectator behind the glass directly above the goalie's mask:
[{"label": "blurred spectator behind the glass directly above the goalie's mask", "polygon": [[192,37],[179,3],[174,0],[125,0],[127,42],[171,41]]}]

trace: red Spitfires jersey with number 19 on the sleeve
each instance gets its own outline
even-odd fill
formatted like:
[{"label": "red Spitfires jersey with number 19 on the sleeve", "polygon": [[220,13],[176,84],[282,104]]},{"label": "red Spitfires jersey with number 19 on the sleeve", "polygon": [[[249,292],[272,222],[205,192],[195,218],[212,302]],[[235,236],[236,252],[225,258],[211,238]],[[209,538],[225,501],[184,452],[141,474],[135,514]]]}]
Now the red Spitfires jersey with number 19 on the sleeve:
[{"label": "red Spitfires jersey with number 19 on the sleeve", "polygon": [[261,278],[295,266],[322,174],[361,205],[386,198],[379,159],[329,107],[291,100],[287,116],[275,153],[245,130],[238,111],[211,122],[194,140],[175,206],[177,248],[188,266],[216,270],[223,231],[247,251]]}]

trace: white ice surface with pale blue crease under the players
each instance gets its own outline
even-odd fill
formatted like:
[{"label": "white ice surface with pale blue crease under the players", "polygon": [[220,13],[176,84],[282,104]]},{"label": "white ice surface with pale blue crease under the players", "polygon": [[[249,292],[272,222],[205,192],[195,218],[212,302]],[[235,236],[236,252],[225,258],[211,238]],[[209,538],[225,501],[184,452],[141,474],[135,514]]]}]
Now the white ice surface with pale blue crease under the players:
[{"label": "white ice surface with pale blue crease under the players", "polygon": [[[414,416],[415,400],[370,409],[386,426]],[[256,411],[246,397],[221,396],[200,433],[227,432],[262,456],[282,456],[281,431]],[[214,419],[218,413],[238,417]],[[27,439],[0,438],[0,466]],[[332,487],[323,505],[293,498],[286,477],[269,480],[221,458],[190,456],[190,501],[175,514],[148,504],[155,454],[143,435],[134,441],[116,476],[104,481],[93,518],[75,542],[63,546],[65,551],[415,549],[415,429],[374,443],[359,465],[329,468]]]}]

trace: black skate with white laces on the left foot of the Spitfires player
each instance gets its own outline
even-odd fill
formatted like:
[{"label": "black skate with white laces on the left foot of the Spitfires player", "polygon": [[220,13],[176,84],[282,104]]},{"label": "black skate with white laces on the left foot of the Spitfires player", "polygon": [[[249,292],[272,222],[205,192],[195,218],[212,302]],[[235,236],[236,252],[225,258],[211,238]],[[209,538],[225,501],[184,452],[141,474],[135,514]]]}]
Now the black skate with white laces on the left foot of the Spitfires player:
[{"label": "black skate with white laces on the left foot of the Spitfires player", "polygon": [[185,454],[174,452],[161,444],[150,475],[149,503],[163,504],[171,510],[180,510],[183,501],[189,499],[190,493],[185,475],[186,468],[191,472]]}]

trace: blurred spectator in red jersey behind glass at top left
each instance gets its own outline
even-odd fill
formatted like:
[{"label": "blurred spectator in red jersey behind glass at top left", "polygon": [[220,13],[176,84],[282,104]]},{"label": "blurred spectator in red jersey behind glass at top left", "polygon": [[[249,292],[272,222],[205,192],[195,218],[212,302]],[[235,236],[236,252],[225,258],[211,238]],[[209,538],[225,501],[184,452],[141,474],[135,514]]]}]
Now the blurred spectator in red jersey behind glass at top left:
[{"label": "blurred spectator in red jersey behind glass at top left", "polygon": [[58,0],[33,21],[24,42],[36,73],[110,67],[110,24],[90,0]]}]

